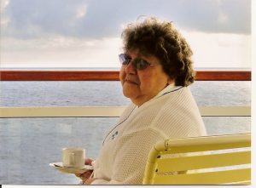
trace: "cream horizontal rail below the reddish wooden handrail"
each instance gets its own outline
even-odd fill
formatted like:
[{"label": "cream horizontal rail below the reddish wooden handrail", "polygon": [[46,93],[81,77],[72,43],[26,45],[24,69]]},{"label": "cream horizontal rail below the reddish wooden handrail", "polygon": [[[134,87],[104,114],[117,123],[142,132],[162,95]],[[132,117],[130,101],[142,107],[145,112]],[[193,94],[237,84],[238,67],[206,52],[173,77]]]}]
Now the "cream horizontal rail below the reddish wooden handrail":
[{"label": "cream horizontal rail below the reddish wooden handrail", "polygon": [[[200,106],[204,117],[250,117],[251,106]],[[125,106],[0,107],[0,117],[119,117]]]}]

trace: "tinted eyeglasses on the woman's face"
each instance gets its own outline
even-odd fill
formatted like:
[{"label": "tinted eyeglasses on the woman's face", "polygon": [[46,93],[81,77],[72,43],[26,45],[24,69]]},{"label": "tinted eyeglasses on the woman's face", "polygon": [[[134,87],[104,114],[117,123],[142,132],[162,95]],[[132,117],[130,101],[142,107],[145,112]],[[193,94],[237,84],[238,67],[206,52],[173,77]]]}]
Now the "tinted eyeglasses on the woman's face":
[{"label": "tinted eyeglasses on the woman's face", "polygon": [[122,65],[128,65],[131,62],[132,66],[134,66],[137,70],[144,70],[148,66],[154,66],[141,58],[131,60],[131,57],[129,57],[127,54],[119,54],[119,60]]}]

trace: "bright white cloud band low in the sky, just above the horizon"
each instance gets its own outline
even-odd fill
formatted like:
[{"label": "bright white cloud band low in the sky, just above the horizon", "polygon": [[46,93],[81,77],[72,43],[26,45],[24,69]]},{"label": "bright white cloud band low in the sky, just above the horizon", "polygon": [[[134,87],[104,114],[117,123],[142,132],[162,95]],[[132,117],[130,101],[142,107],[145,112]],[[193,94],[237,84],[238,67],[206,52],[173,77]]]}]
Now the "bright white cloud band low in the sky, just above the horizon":
[{"label": "bright white cloud band low in the sky, just above the horizon", "polygon": [[[194,55],[195,67],[250,67],[251,37],[241,34],[182,31]],[[119,67],[122,51],[119,37],[2,41],[1,67]]]}]

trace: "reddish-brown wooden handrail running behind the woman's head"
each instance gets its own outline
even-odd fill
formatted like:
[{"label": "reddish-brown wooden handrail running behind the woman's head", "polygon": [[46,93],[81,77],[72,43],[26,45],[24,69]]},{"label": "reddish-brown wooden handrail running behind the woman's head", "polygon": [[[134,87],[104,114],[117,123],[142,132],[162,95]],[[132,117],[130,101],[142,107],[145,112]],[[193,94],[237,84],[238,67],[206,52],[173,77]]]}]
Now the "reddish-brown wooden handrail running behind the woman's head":
[{"label": "reddish-brown wooden handrail running behind the woman's head", "polygon": [[[196,71],[198,81],[251,81],[251,71]],[[119,71],[0,71],[0,81],[119,81]]]}]

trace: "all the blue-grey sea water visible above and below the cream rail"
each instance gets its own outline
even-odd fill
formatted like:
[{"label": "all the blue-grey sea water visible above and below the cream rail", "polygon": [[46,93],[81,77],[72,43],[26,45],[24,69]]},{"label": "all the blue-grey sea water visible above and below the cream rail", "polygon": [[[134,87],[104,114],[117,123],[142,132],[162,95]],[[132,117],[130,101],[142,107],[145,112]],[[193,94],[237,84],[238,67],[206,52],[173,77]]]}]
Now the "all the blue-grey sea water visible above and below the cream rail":
[{"label": "all the blue-grey sea water visible above and below the cream rail", "polygon": [[[251,105],[251,82],[196,82],[190,87],[198,105]],[[0,106],[128,105],[119,82],[0,82]],[[79,146],[96,158],[116,117],[0,118],[0,184],[73,185],[49,162],[61,161],[61,148]],[[250,117],[203,117],[207,133],[251,130]]]}]

